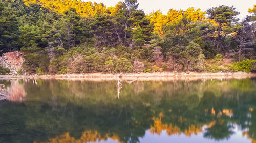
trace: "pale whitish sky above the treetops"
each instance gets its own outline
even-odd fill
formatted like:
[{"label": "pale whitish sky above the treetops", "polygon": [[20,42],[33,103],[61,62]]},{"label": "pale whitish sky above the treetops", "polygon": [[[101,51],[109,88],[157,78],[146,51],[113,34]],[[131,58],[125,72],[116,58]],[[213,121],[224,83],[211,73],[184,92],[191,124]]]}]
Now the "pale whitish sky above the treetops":
[{"label": "pale whitish sky above the treetops", "polygon": [[[102,2],[107,7],[115,6],[120,0],[91,0],[92,2]],[[161,10],[163,14],[167,14],[168,10],[183,9],[186,10],[189,7],[196,9],[200,8],[206,11],[208,8],[216,7],[220,5],[234,6],[240,14],[237,16],[239,19],[243,19],[248,13],[249,8],[253,8],[256,4],[256,0],[138,0],[139,9],[142,9],[146,14],[151,11]]]}]

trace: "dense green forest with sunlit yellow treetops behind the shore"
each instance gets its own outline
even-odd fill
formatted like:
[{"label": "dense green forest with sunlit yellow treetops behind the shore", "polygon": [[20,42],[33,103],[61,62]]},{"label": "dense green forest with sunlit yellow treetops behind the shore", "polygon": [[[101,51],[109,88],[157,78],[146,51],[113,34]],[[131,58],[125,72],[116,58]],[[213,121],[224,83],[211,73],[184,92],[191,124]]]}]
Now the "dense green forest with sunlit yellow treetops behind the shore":
[{"label": "dense green forest with sunlit yellow treetops behind the shore", "polygon": [[256,71],[256,5],[244,19],[233,6],[138,5],[0,0],[0,54],[26,52],[20,74]]}]

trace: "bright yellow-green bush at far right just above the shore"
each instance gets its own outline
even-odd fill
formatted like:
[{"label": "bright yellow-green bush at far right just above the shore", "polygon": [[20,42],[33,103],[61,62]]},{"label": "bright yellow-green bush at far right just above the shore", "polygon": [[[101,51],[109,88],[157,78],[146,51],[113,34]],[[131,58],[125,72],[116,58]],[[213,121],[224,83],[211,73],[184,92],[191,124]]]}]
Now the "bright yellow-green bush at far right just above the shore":
[{"label": "bright yellow-green bush at far right just above the shore", "polygon": [[243,60],[241,62],[233,63],[232,71],[250,72],[252,70],[252,63],[254,60]]}]

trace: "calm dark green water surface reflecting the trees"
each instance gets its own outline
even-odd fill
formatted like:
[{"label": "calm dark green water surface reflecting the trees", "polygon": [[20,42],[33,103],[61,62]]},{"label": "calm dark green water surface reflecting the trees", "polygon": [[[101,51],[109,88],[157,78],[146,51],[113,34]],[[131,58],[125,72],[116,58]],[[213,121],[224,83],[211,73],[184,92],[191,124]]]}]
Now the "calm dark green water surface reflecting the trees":
[{"label": "calm dark green water surface reflecting the trees", "polygon": [[0,80],[0,142],[256,142],[256,78],[121,83]]}]

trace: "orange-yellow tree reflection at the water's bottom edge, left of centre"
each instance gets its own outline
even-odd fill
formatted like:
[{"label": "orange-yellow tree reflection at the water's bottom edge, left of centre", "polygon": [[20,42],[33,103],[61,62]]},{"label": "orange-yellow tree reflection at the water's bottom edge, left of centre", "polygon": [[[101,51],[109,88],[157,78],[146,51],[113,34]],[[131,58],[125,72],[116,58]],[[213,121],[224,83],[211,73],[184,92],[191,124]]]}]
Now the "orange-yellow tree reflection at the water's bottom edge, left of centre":
[{"label": "orange-yellow tree reflection at the water's bottom edge, left of centre", "polygon": [[[115,134],[101,135],[97,131],[85,131],[82,133],[80,139],[75,139],[74,137],[71,137],[69,133],[65,133],[63,135],[49,139],[49,141],[41,142],[41,143],[86,143],[86,142],[105,141],[106,139],[117,140],[118,142],[120,142],[119,137]],[[34,143],[38,143],[38,142],[34,141]]]}]

